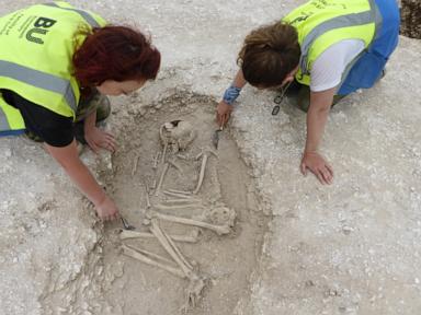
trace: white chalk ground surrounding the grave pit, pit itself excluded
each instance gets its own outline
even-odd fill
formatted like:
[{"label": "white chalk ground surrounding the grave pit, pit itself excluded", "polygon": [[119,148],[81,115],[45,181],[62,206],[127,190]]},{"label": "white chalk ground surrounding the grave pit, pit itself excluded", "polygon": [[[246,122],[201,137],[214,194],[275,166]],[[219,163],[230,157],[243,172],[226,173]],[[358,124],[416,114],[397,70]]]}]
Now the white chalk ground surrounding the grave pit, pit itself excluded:
[{"label": "white chalk ground surrounding the grave pit, pit itself excluded", "polygon": [[[0,14],[36,2],[8,1]],[[162,68],[141,104],[177,89],[218,100],[243,36],[301,2],[72,1],[152,33]],[[286,102],[272,117],[274,93],[243,91],[229,131],[273,218],[250,294],[226,314],[420,314],[420,51],[421,42],[401,38],[386,78],[332,109],[321,148],[331,186],[299,173],[305,114]],[[42,149],[1,139],[0,152],[0,314],[91,314],[83,301],[102,302],[92,275],[122,272],[95,264],[101,230]],[[93,172],[109,165],[105,155],[84,159]]]}]

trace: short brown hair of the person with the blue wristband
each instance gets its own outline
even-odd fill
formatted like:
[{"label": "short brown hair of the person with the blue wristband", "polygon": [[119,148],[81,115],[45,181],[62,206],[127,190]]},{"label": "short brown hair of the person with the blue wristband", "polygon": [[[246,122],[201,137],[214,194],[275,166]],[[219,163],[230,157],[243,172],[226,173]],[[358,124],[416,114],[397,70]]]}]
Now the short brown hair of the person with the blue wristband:
[{"label": "short brown hair of the person with the blue wristband", "polygon": [[299,62],[297,31],[289,24],[276,22],[247,35],[237,62],[248,83],[260,88],[282,84]]}]

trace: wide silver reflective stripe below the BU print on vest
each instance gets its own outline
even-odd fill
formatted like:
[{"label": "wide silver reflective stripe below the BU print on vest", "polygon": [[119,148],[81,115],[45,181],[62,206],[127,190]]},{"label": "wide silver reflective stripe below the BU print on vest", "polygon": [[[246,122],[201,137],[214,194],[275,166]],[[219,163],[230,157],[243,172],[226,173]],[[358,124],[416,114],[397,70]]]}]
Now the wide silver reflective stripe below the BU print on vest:
[{"label": "wide silver reflective stripe below the BU print on vest", "polygon": [[0,75],[62,95],[76,113],[77,101],[70,81],[18,63],[0,60]]}]

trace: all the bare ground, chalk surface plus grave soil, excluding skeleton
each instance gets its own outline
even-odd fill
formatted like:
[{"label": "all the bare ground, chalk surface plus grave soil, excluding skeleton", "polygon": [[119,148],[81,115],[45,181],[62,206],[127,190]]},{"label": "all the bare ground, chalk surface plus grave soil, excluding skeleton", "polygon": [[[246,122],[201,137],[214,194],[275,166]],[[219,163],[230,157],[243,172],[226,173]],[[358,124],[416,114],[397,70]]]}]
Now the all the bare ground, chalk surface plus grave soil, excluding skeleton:
[{"label": "all the bare ground, chalk surface plus grave soil, excluding skeleton", "polygon": [[[0,13],[35,2],[9,1]],[[198,132],[184,154],[196,156],[215,130],[213,108],[237,70],[244,34],[298,2],[72,3],[151,32],[163,56],[156,82],[112,98],[106,128],[118,152],[82,155],[128,222],[147,231],[144,183],[156,176],[159,127],[191,121]],[[272,117],[274,92],[242,91],[197,195],[205,209],[216,202],[235,209],[234,231],[204,231],[196,244],[178,243],[209,278],[191,314],[419,313],[420,51],[420,40],[402,37],[386,78],[332,109],[321,145],[335,171],[329,187],[299,174],[306,116],[286,100]],[[102,226],[39,145],[1,139],[0,152],[1,315],[178,314],[189,281],[123,256],[121,224]],[[185,175],[170,168],[163,187],[193,189],[201,160],[175,161]],[[164,202],[150,197],[152,205]],[[129,243],[169,257],[156,241]]]}]

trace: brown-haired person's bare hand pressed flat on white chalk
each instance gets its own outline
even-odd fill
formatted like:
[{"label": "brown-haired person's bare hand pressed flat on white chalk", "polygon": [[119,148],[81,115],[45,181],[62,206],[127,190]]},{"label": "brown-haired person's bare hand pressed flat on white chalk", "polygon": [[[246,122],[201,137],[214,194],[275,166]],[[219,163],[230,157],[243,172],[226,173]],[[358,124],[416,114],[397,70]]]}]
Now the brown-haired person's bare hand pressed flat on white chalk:
[{"label": "brown-haired person's bare hand pressed flat on white chalk", "polygon": [[320,180],[321,184],[332,184],[333,170],[317,152],[304,152],[300,170],[307,175],[307,168]]}]

